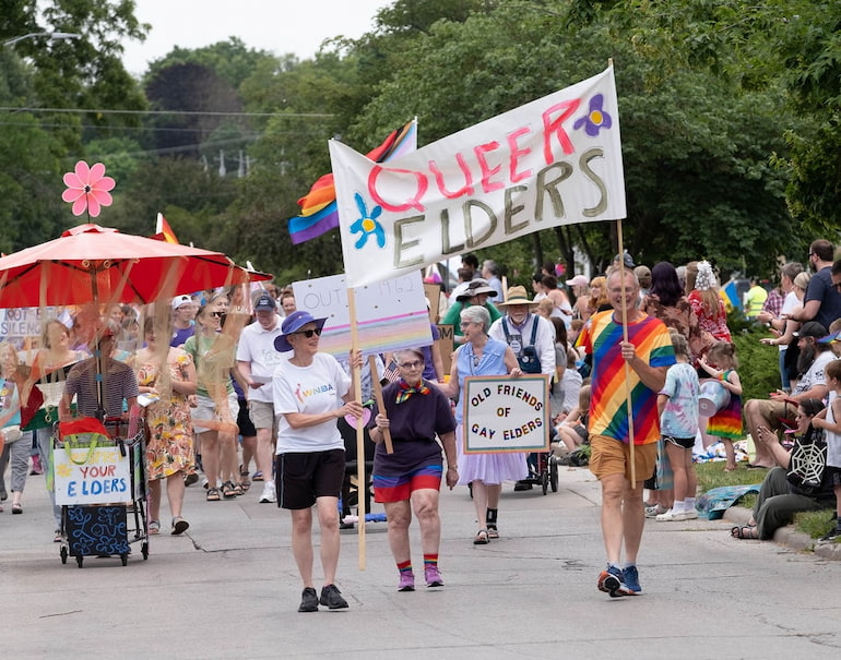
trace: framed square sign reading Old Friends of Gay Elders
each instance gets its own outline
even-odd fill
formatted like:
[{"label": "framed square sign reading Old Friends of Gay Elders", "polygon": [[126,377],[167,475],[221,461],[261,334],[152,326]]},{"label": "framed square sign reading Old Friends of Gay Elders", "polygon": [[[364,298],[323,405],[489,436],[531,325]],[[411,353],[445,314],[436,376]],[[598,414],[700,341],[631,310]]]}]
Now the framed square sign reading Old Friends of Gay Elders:
[{"label": "framed square sign reading Old Friends of Gay Elders", "polygon": [[464,379],[464,453],[549,451],[546,375]]}]

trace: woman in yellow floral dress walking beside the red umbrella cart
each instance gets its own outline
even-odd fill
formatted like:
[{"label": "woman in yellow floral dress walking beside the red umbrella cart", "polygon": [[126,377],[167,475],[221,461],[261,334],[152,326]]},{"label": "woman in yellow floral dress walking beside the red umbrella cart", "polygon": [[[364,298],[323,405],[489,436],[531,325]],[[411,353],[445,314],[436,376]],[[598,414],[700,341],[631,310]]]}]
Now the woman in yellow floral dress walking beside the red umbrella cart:
[{"label": "woman in yellow floral dress walking beside the red umbrella cart", "polygon": [[[167,328],[155,331],[154,319],[143,324],[145,348],[134,356],[134,371],[141,396],[154,399],[146,407],[146,473],[150,490],[150,533],[161,531],[161,482],[166,479],[166,494],[173,516],[171,533],[190,526],[181,517],[185,476],[192,469],[192,421],[187,397],[196,394],[197,377],[192,358],[180,348],[159,345],[156,337],[168,339]],[[166,363],[166,370],[161,365]]]}]

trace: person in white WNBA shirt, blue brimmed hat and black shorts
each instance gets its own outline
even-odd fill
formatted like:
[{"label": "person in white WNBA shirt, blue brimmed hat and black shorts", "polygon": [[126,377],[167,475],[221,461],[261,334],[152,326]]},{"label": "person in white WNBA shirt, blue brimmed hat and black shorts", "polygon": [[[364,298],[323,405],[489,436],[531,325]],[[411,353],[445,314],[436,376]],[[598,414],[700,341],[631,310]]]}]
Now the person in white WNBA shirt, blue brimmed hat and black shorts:
[{"label": "person in white WNBA shirt, blue brimmed hat and black shorts", "polygon": [[[339,495],[344,478],[345,453],[336,420],[357,419],[363,406],[353,400],[352,377],[335,358],[319,352],[318,341],[327,319],[293,312],[281,326],[274,346],[292,357],[275,372],[274,410],[280,415],[275,480],[277,505],[292,515],[292,551],[304,583],[298,612],[316,612],[319,603],[331,610],[347,608],[335,586],[339,565]],[[352,357],[362,365],[362,356]],[[268,475],[266,475],[268,477]],[[321,596],[312,581],[312,505],[321,529]]]}]

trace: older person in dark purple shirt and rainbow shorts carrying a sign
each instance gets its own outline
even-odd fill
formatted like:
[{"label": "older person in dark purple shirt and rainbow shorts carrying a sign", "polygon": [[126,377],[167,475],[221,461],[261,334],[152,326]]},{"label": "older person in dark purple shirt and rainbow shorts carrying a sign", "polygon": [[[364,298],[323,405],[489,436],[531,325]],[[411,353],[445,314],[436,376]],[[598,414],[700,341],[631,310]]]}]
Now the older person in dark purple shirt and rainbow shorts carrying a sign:
[{"label": "older person in dark purple shirt and rainbow shorts carrying a sign", "polygon": [[[424,353],[418,349],[395,353],[400,380],[382,391],[384,410],[374,418],[371,440],[374,454],[374,499],[382,502],[389,525],[389,545],[400,572],[399,591],[414,591],[408,525],[414,512],[420,527],[424,553],[424,579],[427,587],[442,587],[438,571],[441,519],[438,517],[438,492],[443,476],[447,487],[459,481],[455,463],[455,421],[450,401],[422,377]],[[383,432],[389,429],[394,452],[386,453]],[[447,458],[442,471],[440,437]]]}]

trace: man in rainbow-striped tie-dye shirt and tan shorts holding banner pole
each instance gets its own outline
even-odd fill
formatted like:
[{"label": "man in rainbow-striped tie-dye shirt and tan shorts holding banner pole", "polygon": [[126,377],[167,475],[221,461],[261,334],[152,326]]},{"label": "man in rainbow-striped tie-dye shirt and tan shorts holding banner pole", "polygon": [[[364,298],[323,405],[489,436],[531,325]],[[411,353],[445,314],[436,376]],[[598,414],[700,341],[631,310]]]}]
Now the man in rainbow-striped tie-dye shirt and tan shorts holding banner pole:
[{"label": "man in rainbow-striped tie-dye shirt and tan shorts holding banner pole", "polygon": [[[668,367],[675,363],[675,352],[665,324],[637,308],[639,281],[631,271],[612,272],[607,295],[614,309],[594,314],[578,338],[593,360],[590,470],[602,482],[602,536],[607,551],[607,568],[599,575],[597,586],[612,597],[639,596],[637,552],[645,521],[642,483],[654,472],[660,439],[658,393]],[[627,341],[623,340],[623,309]],[[629,393],[632,418],[628,416]],[[633,422],[635,482],[629,419]]]}]

